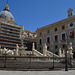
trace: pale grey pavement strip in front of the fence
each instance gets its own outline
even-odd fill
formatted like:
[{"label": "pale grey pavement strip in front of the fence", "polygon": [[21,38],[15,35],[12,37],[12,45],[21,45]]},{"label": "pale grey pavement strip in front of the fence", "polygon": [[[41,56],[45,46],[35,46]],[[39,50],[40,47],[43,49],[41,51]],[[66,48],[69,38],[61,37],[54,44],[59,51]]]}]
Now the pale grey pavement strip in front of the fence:
[{"label": "pale grey pavement strip in front of the fence", "polygon": [[75,70],[70,71],[1,71],[0,75],[75,75]]}]

